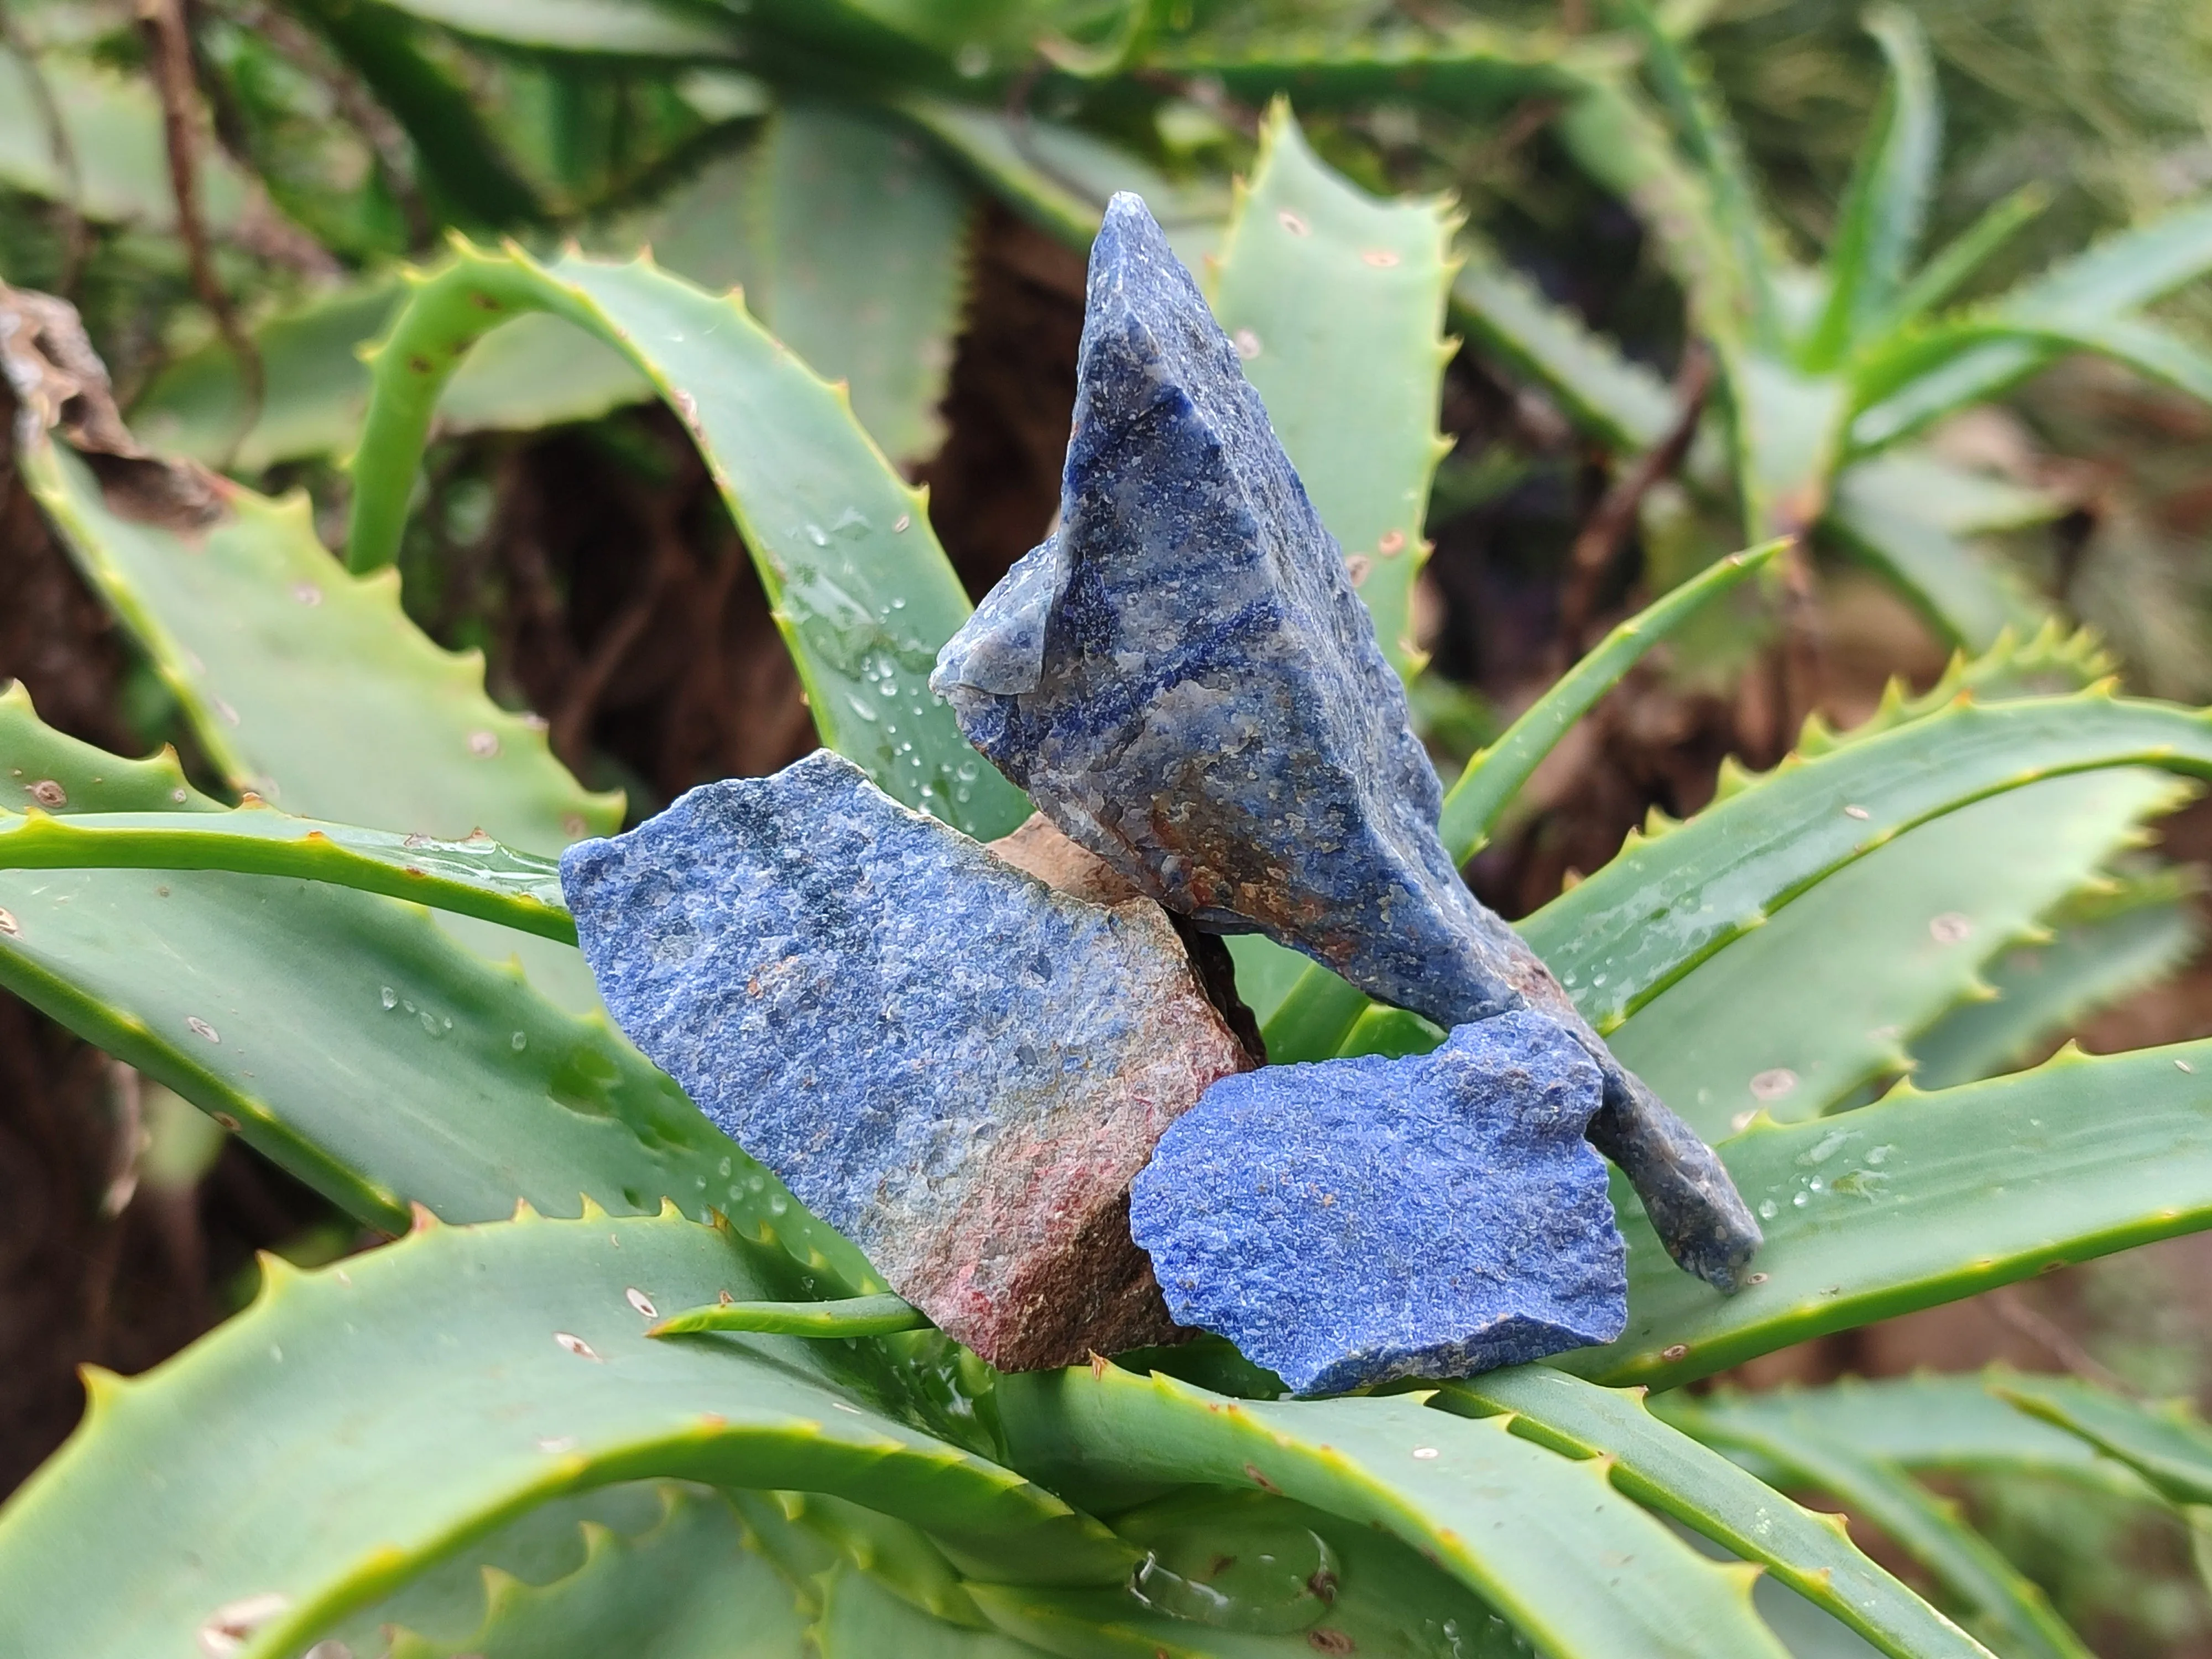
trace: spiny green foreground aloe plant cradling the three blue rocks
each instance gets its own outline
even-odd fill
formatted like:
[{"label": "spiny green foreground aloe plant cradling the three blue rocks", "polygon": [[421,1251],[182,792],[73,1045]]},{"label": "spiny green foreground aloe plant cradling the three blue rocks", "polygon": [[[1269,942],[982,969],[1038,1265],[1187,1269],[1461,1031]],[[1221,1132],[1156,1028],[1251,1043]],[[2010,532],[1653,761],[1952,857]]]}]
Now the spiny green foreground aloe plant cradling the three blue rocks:
[{"label": "spiny green foreground aloe plant cradling the three blue rocks", "polygon": [[[1287,126],[1265,157],[1223,241],[1223,312],[1259,336],[1256,378],[1345,546],[1389,557],[1398,535],[1411,568],[1442,219],[1360,204]],[[1285,241],[1281,215],[1314,234]],[[1358,261],[1374,248],[1398,263]],[[1365,272],[1396,274],[1347,347],[1329,305]],[[2004,951],[2121,914],[2081,894],[2212,774],[2212,712],[2119,697],[2055,628],[2000,637],[1936,692],[1732,772],[1522,925],[1759,1210],[1741,1294],[1677,1272],[1617,1186],[1630,1325],[1557,1365],[1285,1400],[1201,1338],[1000,1376],[918,1327],[597,1013],[551,856],[617,807],[414,630],[389,573],[440,389],[553,314],[684,418],[823,741],[991,834],[1024,803],[920,679],[967,604],[854,400],[739,299],[650,261],[462,246],[407,279],[369,361],[345,568],[296,502],[142,453],[66,316],[7,305],[24,476],[232,799],[0,697],[0,984],[392,1234],[316,1272],[268,1259],[212,1336],[142,1378],[88,1376],[77,1433],[0,1509],[9,1650],[1613,1659],[1783,1655],[1776,1630],[1812,1628],[1900,1659],[2066,1655],[2079,1639],[1911,1471],[2110,1484],[2117,1460],[2143,1502],[2212,1491],[2199,1425],[2026,1378],[1942,1385],[1940,1418],[1851,1389],[1674,1394],[2212,1225],[2212,1044],[1991,1075],[2170,949],[2086,949],[2073,995],[2000,1037],[1955,1031]],[[1365,465],[1332,476],[1329,456]],[[1571,670],[1449,792],[1451,849],[1776,555],[1717,562]],[[1374,593],[1396,646],[1405,584]],[[1847,947],[1794,925],[1838,902]],[[1279,969],[1243,962],[1276,1057],[1438,1037]],[[1885,1091],[1911,1053],[1947,1055],[1951,1086]],[[1781,1486],[1893,1517],[1936,1599]]]}]

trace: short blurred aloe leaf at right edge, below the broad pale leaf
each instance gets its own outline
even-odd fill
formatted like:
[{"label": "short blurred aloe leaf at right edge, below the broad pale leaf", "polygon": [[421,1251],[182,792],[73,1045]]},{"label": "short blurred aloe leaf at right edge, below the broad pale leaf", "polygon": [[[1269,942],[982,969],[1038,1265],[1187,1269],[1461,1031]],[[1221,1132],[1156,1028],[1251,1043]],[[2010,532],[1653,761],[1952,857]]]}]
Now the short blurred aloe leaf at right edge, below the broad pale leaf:
[{"label": "short blurred aloe leaf at right edge, below the broad pale leaf", "polygon": [[1995,995],[1951,1009],[1911,1040],[1913,1082],[1949,1088],[2006,1071],[2095,1009],[2163,980],[2203,940],[2192,898],[2170,872],[2075,896],[2048,918],[2048,940],[1982,969]]}]

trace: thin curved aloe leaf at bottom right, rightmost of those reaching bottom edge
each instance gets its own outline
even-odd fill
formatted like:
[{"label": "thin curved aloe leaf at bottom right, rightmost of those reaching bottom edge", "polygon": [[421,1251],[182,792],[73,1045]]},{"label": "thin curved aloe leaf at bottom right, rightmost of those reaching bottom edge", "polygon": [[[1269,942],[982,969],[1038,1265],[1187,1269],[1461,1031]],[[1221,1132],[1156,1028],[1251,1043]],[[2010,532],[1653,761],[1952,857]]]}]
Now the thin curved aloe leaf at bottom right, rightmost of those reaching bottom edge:
[{"label": "thin curved aloe leaf at bottom right, rightmost of those reaching bottom edge", "polygon": [[1688,1402],[1677,1405],[1672,1418],[1708,1444],[1741,1444],[1790,1484],[1816,1486],[1878,1526],[2006,1659],[2095,1659],[2048,1597],[1958,1517],[1955,1504],[1938,1500],[1896,1464],[1809,1427],[1750,1427],[1708,1418]]}]

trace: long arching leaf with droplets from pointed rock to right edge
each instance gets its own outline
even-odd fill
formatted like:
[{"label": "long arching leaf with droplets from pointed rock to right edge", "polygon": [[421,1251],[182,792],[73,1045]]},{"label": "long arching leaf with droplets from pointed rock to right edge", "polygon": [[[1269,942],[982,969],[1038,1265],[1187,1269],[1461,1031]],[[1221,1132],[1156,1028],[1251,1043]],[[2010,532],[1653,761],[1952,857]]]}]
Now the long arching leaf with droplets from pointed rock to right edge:
[{"label": "long arching leaf with droplets from pointed rock to right edge", "polygon": [[2212,717],[2108,692],[1966,699],[1796,759],[1688,823],[1632,841],[1522,922],[1599,1029],[1918,823],[2037,779],[2112,765],[2212,774]]}]

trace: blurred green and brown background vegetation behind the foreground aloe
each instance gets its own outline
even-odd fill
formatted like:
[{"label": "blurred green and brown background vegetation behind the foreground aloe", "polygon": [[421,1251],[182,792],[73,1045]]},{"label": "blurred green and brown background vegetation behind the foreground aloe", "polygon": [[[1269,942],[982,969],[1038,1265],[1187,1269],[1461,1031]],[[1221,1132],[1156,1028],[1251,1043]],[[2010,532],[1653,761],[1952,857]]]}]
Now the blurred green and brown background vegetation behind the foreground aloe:
[{"label": "blurred green and brown background vegetation behind the foreground aloe", "polygon": [[[1922,257],[1989,215],[2022,217],[1953,303],[1997,307],[2099,237],[2212,190],[2203,7],[1944,0],[1916,18],[1944,113]],[[1469,341],[1440,367],[1438,453],[1427,427],[1354,420],[1378,449],[1345,462],[1422,482],[1436,467],[1425,520],[1371,526],[1376,549],[1398,535],[1411,551],[1378,557],[1363,591],[1405,666],[1427,659],[1413,690],[1447,776],[1613,619],[1717,553],[1807,533],[1781,597],[1745,588],[1674,633],[1495,825],[1471,872],[1509,916],[1597,872],[1655,810],[1686,818],[1725,794],[1723,757],[1767,768],[1809,714],[1858,726],[1891,677],[1936,686],[1955,646],[1984,650],[2004,626],[2020,641],[2055,619],[1984,675],[2088,679],[2095,646],[2068,633],[2086,622],[2130,690],[2212,695],[2212,411],[2185,372],[2188,343],[2212,341],[2212,288],[2188,272],[2128,301],[2126,321],[2166,330],[2172,349],[2115,363],[2053,343],[2044,372],[1993,383],[1993,400],[1916,440],[1944,471],[1891,480],[1885,500],[1949,500],[1973,480],[1982,493],[1949,518],[1854,520],[1847,484],[1838,511],[1792,515],[1792,484],[1843,476],[1840,462],[1770,487],[1765,458],[1723,456],[1719,420],[1699,425],[1745,407],[1767,349],[1756,327],[1736,338],[1745,272],[1765,259],[1787,290],[1794,268],[1836,248],[1869,135],[1909,126],[1896,88],[1918,73],[1913,46],[1891,31],[1885,51],[1856,4],[1677,0],[1639,22],[1595,4],[1449,0],[13,0],[0,20],[0,279],[80,307],[144,442],[272,495],[303,489],[338,549],[372,383],[356,352],[392,323],[405,261],[436,263],[451,232],[542,257],[568,239],[608,257],[650,246],[703,288],[741,283],[779,338],[849,380],[863,427],[929,487],[929,520],[971,593],[1053,513],[1082,248],[1106,190],[1141,188],[1192,259],[1219,252],[1230,179],[1250,175],[1270,97],[1287,93],[1327,166],[1413,199],[1378,210],[1374,234],[1400,241],[1374,246],[1425,292],[1451,281],[1449,327]],[[1677,44],[1692,53],[1686,75],[1710,80],[1670,106]],[[1593,86],[1626,86],[1628,115],[1606,126]],[[1725,135],[1699,150],[1699,111],[1734,122],[1741,173]],[[1739,184],[1763,206],[1743,208],[1745,241],[1712,257],[1699,237],[1730,232]],[[1436,192],[1451,192],[1462,226],[1422,206]],[[1449,257],[1467,261],[1455,272],[1447,230]],[[1920,268],[1907,261],[1898,281]],[[1230,263],[1221,281],[1234,279]],[[1225,316],[1232,303],[1234,288]],[[1433,338],[1433,319],[1411,325]],[[1252,332],[1254,380],[1292,440],[1265,383],[1272,323]],[[1347,349],[1356,367],[1411,347]],[[1358,400],[1358,376],[1336,376],[1327,396]],[[186,774],[221,792],[232,759],[210,750],[157,653],[115,626],[20,471],[4,476],[0,677],[20,679],[46,723],[111,752],[177,745]],[[568,323],[518,323],[467,361],[414,509],[389,531],[407,615],[442,646],[482,650],[493,699],[540,712],[553,754],[588,787],[624,790],[633,818],[816,741],[686,422]],[[1422,540],[1433,553],[1416,580]],[[1898,1031],[1798,1062],[1792,1082],[1825,1064],[1840,1102],[1913,1064],[1927,1086],[1964,1082],[2068,1033],[2093,1051],[2212,1033],[2212,975],[2194,964],[2212,821],[2177,805],[2159,787],[2064,823],[2053,805],[2042,823],[2015,810],[1962,825],[1949,860],[1922,860],[1927,900],[1896,902],[1936,922],[1971,916],[1973,962],[1916,984]],[[2015,858],[2015,843],[2035,856]],[[1986,911],[1947,885],[1980,865],[2004,874]],[[1827,927],[1851,902],[1838,896]],[[1820,925],[1798,922],[1805,960],[1840,958],[1847,980],[1909,978],[1871,947],[1823,947]],[[2077,975],[2068,951],[2095,971]],[[1986,989],[2004,1002],[1982,1002]],[[2035,1020],[1975,1026],[1989,1006],[2028,1004]],[[1772,1104],[1759,1086],[1778,1088],[1772,1073],[1752,1075],[1747,1108]],[[0,1077],[9,1484],[77,1420],[77,1363],[137,1371],[170,1354],[252,1294],[254,1248],[319,1263],[376,1237],[7,998]],[[2205,1398],[2203,1261],[2183,1239],[2070,1267],[1823,1336],[1736,1380],[2002,1358],[2121,1396]],[[1878,1480],[1809,1467],[1803,1433],[1787,1442],[1801,1462],[1778,1453],[1790,1396],[1765,1420],[1705,1398],[1686,1411],[1712,1413],[1714,1444],[1843,1502],[1913,1582],[1955,1595],[1989,1571],[1931,1573],[1942,1548],[1916,1540],[1920,1511]],[[1933,1420],[1942,1398],[1891,1416]],[[1909,1447],[1885,1455],[1913,1462]],[[2026,1455],[1931,1453],[1922,1467],[1969,1506],[2002,1571],[2039,1584],[2097,1652],[2212,1652],[2188,1506],[2084,1495]],[[2033,1628],[2020,1641],[2037,1650]]]}]

